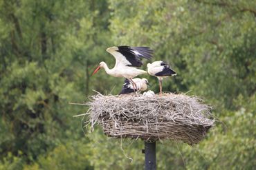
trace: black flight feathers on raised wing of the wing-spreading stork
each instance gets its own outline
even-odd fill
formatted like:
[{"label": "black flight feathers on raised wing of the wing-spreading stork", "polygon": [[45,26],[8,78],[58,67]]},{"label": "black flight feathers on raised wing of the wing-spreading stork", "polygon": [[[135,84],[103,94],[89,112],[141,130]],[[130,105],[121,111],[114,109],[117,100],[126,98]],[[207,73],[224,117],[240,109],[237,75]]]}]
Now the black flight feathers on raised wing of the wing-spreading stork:
[{"label": "black flight feathers on raised wing of the wing-spreading stork", "polygon": [[129,47],[129,46],[118,46],[118,52],[120,52],[132,67],[140,67],[143,65],[142,58],[151,59],[153,50],[149,47]]}]

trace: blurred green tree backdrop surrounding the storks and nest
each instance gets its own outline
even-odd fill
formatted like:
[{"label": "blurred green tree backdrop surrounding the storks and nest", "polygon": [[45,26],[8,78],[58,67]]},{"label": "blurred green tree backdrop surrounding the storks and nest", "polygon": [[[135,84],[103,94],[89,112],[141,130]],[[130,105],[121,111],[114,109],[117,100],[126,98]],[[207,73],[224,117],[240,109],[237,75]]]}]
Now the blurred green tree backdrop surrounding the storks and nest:
[{"label": "blurred green tree backdrop surrounding the storks and nest", "polygon": [[143,169],[142,141],[84,136],[72,116],[86,108],[67,104],[92,89],[118,94],[122,78],[91,77],[100,61],[114,65],[113,45],[152,47],[177,72],[163,89],[203,96],[219,120],[194,147],[159,142],[158,169],[256,167],[255,1],[0,0],[0,9],[0,169]]}]

